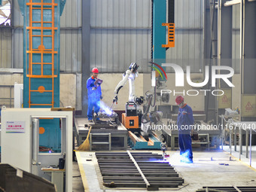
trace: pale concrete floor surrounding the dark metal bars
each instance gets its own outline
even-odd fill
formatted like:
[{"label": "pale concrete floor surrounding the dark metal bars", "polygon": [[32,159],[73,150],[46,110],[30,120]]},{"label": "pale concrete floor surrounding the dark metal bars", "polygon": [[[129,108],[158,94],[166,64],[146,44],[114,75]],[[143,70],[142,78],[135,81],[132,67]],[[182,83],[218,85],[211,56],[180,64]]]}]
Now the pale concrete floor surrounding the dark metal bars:
[{"label": "pale concrete floor surrounding the dark metal bars", "polygon": [[[225,148],[226,149],[226,148]],[[255,148],[256,149],[256,148]],[[227,151],[229,150],[227,146]],[[136,151],[134,151],[136,152]],[[145,152],[145,151],[138,151]],[[152,153],[161,154],[161,151],[151,151]],[[179,187],[178,191],[196,191],[203,186],[256,186],[256,169],[250,168],[236,157],[230,156],[226,151],[194,151],[194,163],[180,163],[178,151],[168,151],[170,154],[169,162],[174,166],[178,174],[184,178],[184,184]],[[234,153],[233,153],[234,154]],[[244,153],[245,154],[245,153]],[[107,188],[102,186],[100,181],[101,176],[98,169],[95,168],[96,158],[93,151],[77,151],[76,156],[78,159],[78,166],[80,168],[82,183],[84,190],[90,192],[97,191],[147,191],[146,189],[118,189]],[[230,160],[231,157],[231,160]],[[211,160],[212,159],[212,160]],[[91,161],[90,161],[91,160]],[[256,160],[254,158],[254,160]],[[220,165],[225,163],[228,165]],[[77,165],[75,165],[77,166]],[[78,170],[75,170],[73,165],[73,175],[79,175]],[[78,178],[80,179],[80,178]],[[76,180],[73,177],[73,191],[80,192],[82,187],[78,187],[81,184],[81,180],[74,183]],[[254,181],[255,180],[255,181]],[[79,189],[77,189],[79,188]],[[169,189],[170,190],[170,189]],[[169,191],[160,189],[159,191]],[[174,189],[177,190],[177,189]]]}]

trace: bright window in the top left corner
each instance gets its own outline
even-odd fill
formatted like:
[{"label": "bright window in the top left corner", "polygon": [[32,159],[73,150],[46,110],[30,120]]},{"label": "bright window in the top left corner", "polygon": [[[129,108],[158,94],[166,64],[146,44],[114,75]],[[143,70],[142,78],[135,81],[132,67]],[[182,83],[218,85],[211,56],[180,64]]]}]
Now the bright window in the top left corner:
[{"label": "bright window in the top left corner", "polygon": [[0,27],[11,26],[11,1],[0,0]]}]

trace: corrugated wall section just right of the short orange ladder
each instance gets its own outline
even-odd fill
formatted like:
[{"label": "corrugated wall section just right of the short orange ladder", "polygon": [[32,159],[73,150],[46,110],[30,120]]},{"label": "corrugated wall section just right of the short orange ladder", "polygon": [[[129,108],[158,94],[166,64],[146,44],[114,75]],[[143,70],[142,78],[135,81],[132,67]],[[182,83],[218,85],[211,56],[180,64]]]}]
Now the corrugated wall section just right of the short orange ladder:
[{"label": "corrugated wall section just right of the short orange ladder", "polygon": [[202,0],[175,1],[175,47],[167,50],[166,61],[190,66],[190,72],[203,68]]}]

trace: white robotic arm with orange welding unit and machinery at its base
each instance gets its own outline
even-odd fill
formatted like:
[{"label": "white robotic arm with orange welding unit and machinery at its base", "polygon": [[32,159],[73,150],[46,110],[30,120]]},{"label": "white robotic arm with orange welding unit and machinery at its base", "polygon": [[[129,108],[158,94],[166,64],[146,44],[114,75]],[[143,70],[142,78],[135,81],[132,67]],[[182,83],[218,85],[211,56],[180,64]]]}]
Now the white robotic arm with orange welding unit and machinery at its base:
[{"label": "white robotic arm with orange welding unit and machinery at its base", "polygon": [[[122,122],[124,126],[126,126],[126,128],[131,130],[132,132],[137,132],[141,134],[147,141],[148,141],[149,134],[154,134],[154,135],[157,134],[157,137],[160,139],[160,141],[165,142],[165,139],[161,130],[159,131],[158,129],[154,129],[154,130],[150,129],[150,127],[153,127],[154,125],[163,124],[161,121],[163,113],[161,111],[155,111],[156,101],[158,100],[157,88],[160,88],[162,86],[162,83],[157,80],[157,87],[152,87],[151,90],[145,93],[146,99],[143,96],[140,96],[140,97],[136,96],[134,81],[136,77],[138,77],[139,75],[139,72],[137,72],[138,68],[139,66],[136,64],[136,62],[132,62],[130,64],[129,69],[123,73],[123,80],[121,80],[117,84],[117,87],[114,90],[113,103],[114,102],[117,103],[117,100],[118,100],[117,96],[120,89],[126,84],[127,81],[129,81],[129,86],[130,86],[129,102],[126,103],[125,117],[122,116]],[[143,103],[145,103],[145,111],[142,108]],[[141,125],[139,129],[133,129],[133,126],[138,128],[139,124]],[[152,131],[154,131],[154,133]]]}]

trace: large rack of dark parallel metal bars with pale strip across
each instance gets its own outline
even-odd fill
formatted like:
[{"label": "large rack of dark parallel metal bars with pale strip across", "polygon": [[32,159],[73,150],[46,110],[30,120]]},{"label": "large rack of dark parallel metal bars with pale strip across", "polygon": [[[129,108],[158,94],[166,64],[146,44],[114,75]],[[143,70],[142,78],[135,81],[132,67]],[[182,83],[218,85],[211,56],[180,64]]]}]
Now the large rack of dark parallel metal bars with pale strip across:
[{"label": "large rack of dark parallel metal bars with pale strip across", "polygon": [[184,183],[161,154],[98,152],[96,158],[106,187],[177,188]]}]

